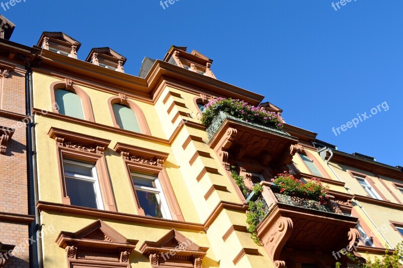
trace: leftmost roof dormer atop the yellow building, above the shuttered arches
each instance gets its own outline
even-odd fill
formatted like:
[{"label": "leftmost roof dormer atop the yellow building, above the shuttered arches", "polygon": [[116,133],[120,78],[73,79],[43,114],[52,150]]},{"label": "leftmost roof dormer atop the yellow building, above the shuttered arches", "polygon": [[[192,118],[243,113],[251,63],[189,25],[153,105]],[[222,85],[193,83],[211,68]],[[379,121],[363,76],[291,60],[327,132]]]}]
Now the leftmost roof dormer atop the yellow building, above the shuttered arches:
[{"label": "leftmost roof dormer atop the yellow building, above the shuttered arches", "polygon": [[43,32],[38,46],[57,54],[77,58],[81,43],[62,32]]}]

